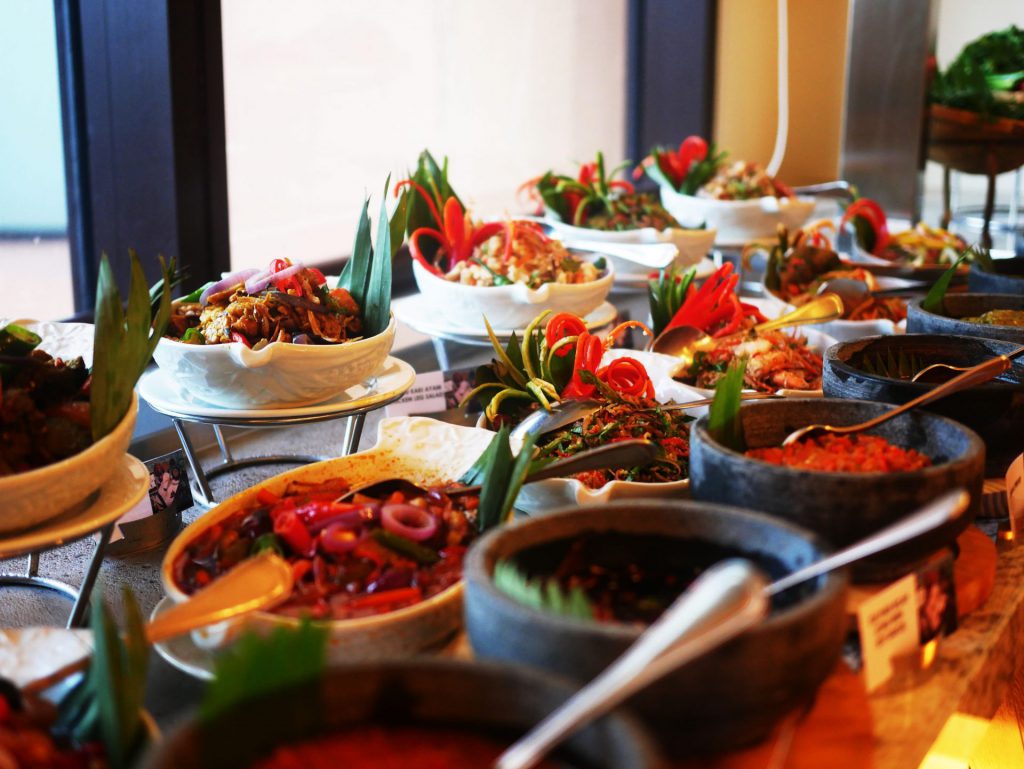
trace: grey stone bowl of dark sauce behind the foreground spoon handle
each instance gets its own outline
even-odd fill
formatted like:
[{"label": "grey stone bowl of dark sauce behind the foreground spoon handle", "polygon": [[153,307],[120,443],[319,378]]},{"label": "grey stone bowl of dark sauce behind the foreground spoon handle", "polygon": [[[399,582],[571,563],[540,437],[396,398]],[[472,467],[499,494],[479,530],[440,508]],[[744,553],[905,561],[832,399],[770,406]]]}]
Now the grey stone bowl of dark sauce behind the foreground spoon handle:
[{"label": "grey stone bowl of dark sauce behind the foreground spoon handle", "polygon": [[[561,510],[471,548],[469,640],[477,657],[586,681],[719,559],[738,553],[780,576],[826,552],[804,529],[721,505],[646,500]],[[594,571],[629,576],[606,590]],[[631,707],[667,749],[688,757],[762,739],[831,673],[846,634],[846,582],[834,572],[780,595],[761,624],[636,693]]]}]

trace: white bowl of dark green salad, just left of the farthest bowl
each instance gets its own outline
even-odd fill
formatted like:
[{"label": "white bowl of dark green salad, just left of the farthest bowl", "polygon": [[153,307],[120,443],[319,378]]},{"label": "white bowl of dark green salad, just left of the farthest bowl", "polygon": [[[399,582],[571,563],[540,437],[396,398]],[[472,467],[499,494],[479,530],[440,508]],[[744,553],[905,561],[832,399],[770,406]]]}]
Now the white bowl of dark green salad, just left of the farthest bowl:
[{"label": "white bowl of dark green salad, just left of the farthest bowl", "polygon": [[[714,229],[700,222],[680,224],[655,196],[637,193],[631,182],[614,178],[626,165],[606,172],[604,156],[598,153],[595,161],[580,167],[575,177],[548,171],[520,189],[566,240],[595,245],[669,243],[679,251],[677,266],[700,261],[715,243]],[[629,267],[628,261],[618,258],[618,271]],[[631,269],[637,271],[637,265]]]}]

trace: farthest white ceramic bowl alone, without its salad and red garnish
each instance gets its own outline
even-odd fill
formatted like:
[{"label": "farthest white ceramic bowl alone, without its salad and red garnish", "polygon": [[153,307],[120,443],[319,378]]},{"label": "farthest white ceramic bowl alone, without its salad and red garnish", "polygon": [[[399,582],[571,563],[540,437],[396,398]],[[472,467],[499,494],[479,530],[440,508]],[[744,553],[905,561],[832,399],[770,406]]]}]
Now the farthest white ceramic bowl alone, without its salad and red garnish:
[{"label": "farthest white ceramic bowl alone, without its salad and red garnish", "polygon": [[750,201],[719,201],[682,195],[663,184],[662,205],[683,224],[705,222],[718,231],[715,243],[742,246],[761,238],[774,238],[779,224],[791,232],[810,218],[813,198],[756,198]]}]

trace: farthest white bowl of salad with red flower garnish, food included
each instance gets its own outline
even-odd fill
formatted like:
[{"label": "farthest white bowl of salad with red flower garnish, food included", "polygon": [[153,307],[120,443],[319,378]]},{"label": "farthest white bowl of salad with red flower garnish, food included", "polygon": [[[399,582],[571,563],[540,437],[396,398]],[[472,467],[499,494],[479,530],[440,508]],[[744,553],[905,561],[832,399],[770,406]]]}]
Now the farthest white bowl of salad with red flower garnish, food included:
[{"label": "farthest white bowl of salad with red flower garnish, food included", "polygon": [[757,163],[726,160],[699,136],[679,148],[655,147],[639,166],[658,183],[662,203],[683,223],[706,222],[719,245],[770,238],[779,224],[803,225],[814,201],[799,198]]}]

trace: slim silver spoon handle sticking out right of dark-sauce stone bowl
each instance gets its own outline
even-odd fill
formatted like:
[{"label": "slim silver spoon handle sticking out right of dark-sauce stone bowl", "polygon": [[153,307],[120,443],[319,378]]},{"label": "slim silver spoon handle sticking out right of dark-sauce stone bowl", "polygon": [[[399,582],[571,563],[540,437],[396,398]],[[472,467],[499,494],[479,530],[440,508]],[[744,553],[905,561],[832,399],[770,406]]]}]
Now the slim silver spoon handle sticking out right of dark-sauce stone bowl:
[{"label": "slim silver spoon handle sticking out right of dark-sauce stone bowl", "polygon": [[963,488],[955,488],[905,518],[901,518],[892,525],[886,526],[881,531],[871,535],[865,540],[861,540],[856,545],[834,553],[816,563],[804,566],[791,574],[786,574],[781,580],[776,580],[768,586],[768,595],[777,595],[784,590],[788,590],[794,585],[800,585],[808,580],[813,580],[815,576],[820,576],[861,558],[881,553],[883,550],[888,550],[907,540],[912,540],[919,535],[931,531],[933,528],[938,528],[943,523],[961,516],[970,504],[971,495]]}]

